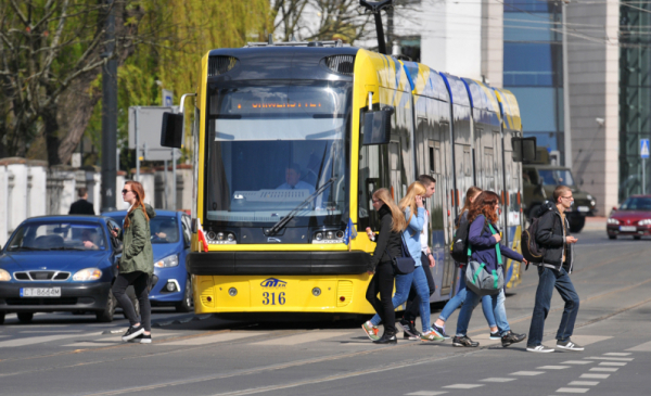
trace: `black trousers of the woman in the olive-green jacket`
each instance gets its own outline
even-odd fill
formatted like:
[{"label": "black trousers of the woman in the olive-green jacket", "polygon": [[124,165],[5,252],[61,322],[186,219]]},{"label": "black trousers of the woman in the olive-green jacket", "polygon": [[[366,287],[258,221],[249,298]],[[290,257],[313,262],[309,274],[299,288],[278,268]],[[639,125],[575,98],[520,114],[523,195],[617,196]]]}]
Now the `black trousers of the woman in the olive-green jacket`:
[{"label": "black trousers of the woman in the olive-green jacket", "polygon": [[[136,308],[131,304],[131,299],[127,296],[127,288],[132,284],[136,291],[136,297],[140,303],[140,316],[136,315]],[[118,273],[113,283],[113,295],[119,302],[129,323],[131,325],[140,322],[144,327],[144,331],[152,331],[152,306],[149,302],[149,274],[146,272],[136,271],[127,273]]]}]

